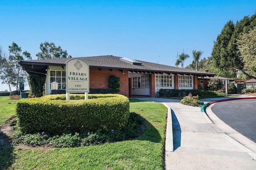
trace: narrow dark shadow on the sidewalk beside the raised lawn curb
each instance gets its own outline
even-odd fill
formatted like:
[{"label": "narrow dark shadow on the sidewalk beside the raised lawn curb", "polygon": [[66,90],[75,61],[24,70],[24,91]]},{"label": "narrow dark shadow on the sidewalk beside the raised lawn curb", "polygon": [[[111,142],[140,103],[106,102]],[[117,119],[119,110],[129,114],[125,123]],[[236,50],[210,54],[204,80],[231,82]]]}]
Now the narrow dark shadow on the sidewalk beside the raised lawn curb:
[{"label": "narrow dark shadow on the sidewalk beside the raised lawn curb", "polygon": [[181,141],[181,129],[180,129],[180,123],[174,113],[172,111],[172,135],[173,135],[173,151],[178,149],[180,147],[180,141]]}]

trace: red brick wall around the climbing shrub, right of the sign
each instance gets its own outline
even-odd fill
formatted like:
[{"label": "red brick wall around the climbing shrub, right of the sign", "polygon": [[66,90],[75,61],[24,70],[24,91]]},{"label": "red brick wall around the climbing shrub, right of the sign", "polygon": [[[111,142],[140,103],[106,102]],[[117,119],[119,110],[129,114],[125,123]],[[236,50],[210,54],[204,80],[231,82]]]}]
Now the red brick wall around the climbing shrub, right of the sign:
[{"label": "red brick wall around the climbing shrub, right of the sign", "polygon": [[124,74],[119,70],[110,71],[108,69],[90,68],[90,88],[108,88],[108,79],[111,75],[120,77],[120,92],[124,96],[129,97],[128,71],[124,70]]}]

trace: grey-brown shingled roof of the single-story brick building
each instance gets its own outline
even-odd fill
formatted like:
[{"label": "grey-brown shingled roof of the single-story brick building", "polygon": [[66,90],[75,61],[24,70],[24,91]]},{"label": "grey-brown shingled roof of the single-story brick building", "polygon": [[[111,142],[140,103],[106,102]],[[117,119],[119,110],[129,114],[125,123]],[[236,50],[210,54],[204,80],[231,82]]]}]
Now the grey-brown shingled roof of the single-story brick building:
[{"label": "grey-brown shingled roof of the single-story brick building", "polygon": [[[175,66],[168,66],[164,64],[150,63],[146,61],[139,61],[141,65],[135,65],[127,63],[120,60],[122,57],[116,57],[112,55],[105,56],[94,56],[94,57],[77,57],[82,59],[90,68],[107,68],[107,69],[118,69],[118,70],[128,70],[130,72],[151,72],[151,73],[167,73],[167,74],[191,74],[197,76],[214,76],[214,73],[202,72],[196,70],[190,70],[186,68],[178,68]],[[65,59],[46,59],[46,60],[22,60],[19,64],[23,67],[24,70],[29,72],[42,72],[45,74],[45,69],[49,65],[55,66],[66,66],[66,61],[70,58]],[[40,67],[40,69],[36,69]],[[30,74],[30,73],[29,73]]]}]

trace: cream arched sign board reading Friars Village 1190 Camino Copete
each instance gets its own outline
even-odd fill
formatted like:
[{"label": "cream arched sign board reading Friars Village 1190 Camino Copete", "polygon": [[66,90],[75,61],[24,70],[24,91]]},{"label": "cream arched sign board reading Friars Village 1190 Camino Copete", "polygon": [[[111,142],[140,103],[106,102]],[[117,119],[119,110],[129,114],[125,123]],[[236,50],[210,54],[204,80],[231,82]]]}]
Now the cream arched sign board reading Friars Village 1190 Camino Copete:
[{"label": "cream arched sign board reading Friars Village 1190 Camino Copete", "polygon": [[81,59],[66,62],[66,93],[89,92],[89,65]]}]

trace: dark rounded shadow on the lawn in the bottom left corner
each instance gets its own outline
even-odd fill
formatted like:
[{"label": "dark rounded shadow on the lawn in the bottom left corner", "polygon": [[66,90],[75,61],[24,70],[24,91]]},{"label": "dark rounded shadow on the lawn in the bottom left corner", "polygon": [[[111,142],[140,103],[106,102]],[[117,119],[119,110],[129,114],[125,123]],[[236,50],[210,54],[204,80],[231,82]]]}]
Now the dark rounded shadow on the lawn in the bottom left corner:
[{"label": "dark rounded shadow on the lawn in the bottom left corner", "polygon": [[8,169],[14,162],[13,150],[10,138],[4,133],[0,134],[0,170]]}]

